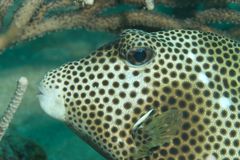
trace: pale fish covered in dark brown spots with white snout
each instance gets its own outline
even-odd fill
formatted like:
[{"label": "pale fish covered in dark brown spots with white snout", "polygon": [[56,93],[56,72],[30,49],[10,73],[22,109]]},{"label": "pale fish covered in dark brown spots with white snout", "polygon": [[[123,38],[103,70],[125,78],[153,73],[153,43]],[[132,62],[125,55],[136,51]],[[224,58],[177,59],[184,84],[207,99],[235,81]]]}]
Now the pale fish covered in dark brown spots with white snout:
[{"label": "pale fish covered in dark brown spots with white snout", "polygon": [[48,72],[38,98],[109,160],[239,160],[239,84],[235,40],[127,29]]}]

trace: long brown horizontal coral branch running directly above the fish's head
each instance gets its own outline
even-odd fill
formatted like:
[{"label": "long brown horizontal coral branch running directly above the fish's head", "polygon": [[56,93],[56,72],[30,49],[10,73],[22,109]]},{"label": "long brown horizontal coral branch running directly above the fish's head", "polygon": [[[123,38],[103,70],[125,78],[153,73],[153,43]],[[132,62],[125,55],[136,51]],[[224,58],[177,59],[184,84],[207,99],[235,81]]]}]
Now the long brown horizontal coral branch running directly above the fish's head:
[{"label": "long brown horizontal coral branch running directly above the fish's head", "polygon": [[114,16],[93,17],[89,19],[86,19],[85,15],[76,13],[48,18],[42,23],[27,26],[19,40],[31,39],[60,29],[85,28],[116,32],[132,27],[147,28],[150,30],[189,28],[221,33],[221,31],[194,22],[193,20],[181,21],[167,15],[154,14],[147,11],[125,12]]}]

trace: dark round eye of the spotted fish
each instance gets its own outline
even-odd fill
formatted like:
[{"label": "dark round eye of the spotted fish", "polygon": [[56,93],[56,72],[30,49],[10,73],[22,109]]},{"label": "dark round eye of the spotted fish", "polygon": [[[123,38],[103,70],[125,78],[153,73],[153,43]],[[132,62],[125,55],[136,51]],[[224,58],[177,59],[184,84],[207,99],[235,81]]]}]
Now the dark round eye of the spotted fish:
[{"label": "dark round eye of the spotted fish", "polygon": [[130,49],[126,58],[127,61],[135,66],[140,66],[149,62],[154,56],[154,51],[151,48],[133,48]]}]

